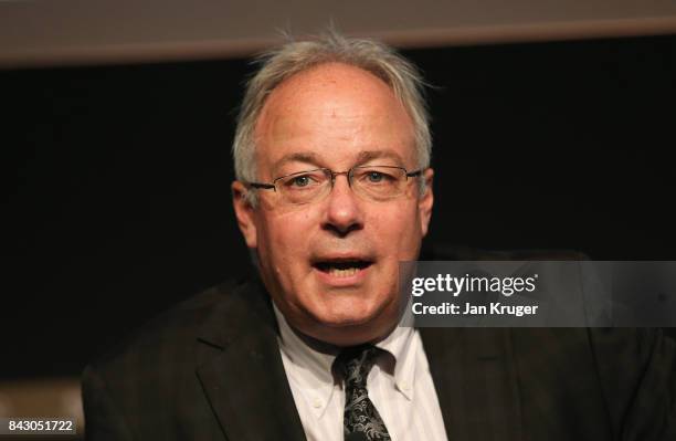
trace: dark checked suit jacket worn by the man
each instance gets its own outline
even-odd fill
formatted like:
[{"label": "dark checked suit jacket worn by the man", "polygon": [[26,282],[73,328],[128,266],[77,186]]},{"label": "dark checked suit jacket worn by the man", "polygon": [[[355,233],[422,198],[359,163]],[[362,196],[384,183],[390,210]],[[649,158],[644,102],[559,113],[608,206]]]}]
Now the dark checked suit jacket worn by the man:
[{"label": "dark checked suit jacket worn by the man", "polygon": [[[676,440],[654,329],[421,329],[450,441]],[[211,288],[88,366],[89,440],[303,440],[258,283]]]}]

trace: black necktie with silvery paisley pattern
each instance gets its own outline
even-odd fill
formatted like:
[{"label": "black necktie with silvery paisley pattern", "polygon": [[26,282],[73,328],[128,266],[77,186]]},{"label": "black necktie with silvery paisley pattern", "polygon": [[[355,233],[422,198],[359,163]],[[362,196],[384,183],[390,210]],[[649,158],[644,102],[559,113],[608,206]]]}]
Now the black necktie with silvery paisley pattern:
[{"label": "black necktie with silvery paisley pattern", "polygon": [[[344,349],[336,358],[338,371],[345,379],[345,439],[390,441],[388,429],[380,413],[369,399],[367,377],[376,363],[378,348],[362,345]],[[359,433],[362,437],[356,437]],[[356,437],[356,438],[352,438]]]}]

